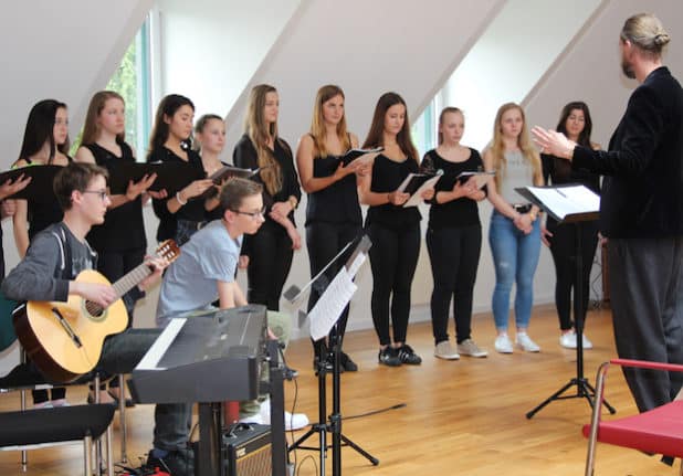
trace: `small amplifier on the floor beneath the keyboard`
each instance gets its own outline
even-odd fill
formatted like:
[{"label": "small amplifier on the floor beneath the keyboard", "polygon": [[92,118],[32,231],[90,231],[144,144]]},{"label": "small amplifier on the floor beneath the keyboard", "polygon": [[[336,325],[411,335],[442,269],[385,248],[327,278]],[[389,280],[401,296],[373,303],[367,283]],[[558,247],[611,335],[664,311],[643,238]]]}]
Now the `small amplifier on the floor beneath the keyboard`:
[{"label": "small amplifier on the floor beneath the keyboard", "polygon": [[228,476],[271,476],[273,456],[269,425],[239,424],[223,434]]}]

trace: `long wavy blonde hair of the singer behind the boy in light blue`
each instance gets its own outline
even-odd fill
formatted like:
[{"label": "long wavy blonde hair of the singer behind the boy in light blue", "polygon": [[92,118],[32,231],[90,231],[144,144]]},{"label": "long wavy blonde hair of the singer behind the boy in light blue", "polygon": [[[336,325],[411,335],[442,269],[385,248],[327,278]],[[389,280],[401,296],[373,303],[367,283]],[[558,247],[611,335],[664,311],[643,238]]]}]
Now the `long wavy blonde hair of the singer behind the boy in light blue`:
[{"label": "long wavy blonde hair of the singer behind the boy in light blue", "polygon": [[269,138],[272,137],[274,141],[279,140],[277,123],[265,124],[263,118],[267,93],[277,93],[277,89],[267,84],[259,84],[251,89],[246,116],[244,117],[244,134],[249,136],[256,149],[258,163],[261,169],[260,176],[265,189],[271,195],[274,195],[282,188],[282,173],[280,163],[275,160],[273,151],[267,147]]}]

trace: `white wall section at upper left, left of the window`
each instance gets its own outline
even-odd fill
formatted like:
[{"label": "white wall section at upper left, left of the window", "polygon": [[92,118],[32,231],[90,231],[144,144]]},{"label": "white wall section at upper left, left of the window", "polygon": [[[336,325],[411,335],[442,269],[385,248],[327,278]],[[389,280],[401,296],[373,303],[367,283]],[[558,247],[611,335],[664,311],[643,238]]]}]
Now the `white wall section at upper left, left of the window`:
[{"label": "white wall section at upper left, left of the window", "polygon": [[[13,1],[2,7],[2,170],[17,160],[29,110],[44,98],[69,105],[71,136],[91,95],[106,86],[153,0]],[[106,15],[105,13],[106,12]],[[106,19],[106,20],[105,20]]]}]

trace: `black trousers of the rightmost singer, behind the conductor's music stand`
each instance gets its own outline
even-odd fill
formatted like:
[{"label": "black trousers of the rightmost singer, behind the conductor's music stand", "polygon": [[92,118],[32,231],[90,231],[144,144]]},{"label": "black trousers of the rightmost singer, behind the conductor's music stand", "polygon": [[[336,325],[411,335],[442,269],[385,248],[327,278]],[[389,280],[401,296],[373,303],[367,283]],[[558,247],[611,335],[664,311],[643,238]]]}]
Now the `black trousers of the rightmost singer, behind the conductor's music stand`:
[{"label": "black trousers of the rightmost singer, behind the conductor's music stand", "polygon": [[[569,330],[574,328],[571,319],[571,290],[576,292],[576,224],[557,224],[548,221],[547,229],[553,236],[550,253],[555,262],[555,306],[559,317],[559,328]],[[598,245],[598,222],[581,223],[581,317],[586,318],[588,299],[590,297],[590,269]]]}]

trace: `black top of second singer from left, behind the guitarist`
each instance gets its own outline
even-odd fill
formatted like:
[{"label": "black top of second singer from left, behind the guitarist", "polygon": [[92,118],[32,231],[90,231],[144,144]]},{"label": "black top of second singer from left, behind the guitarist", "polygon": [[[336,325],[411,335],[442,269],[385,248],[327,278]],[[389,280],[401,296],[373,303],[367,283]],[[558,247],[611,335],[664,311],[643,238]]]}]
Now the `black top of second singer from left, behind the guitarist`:
[{"label": "black top of second singer from left, behind the guitarist", "polygon": [[[126,142],[118,142],[118,146],[120,147],[120,157],[97,144],[88,144],[83,147],[93,154],[98,166],[112,171],[123,161],[135,162],[130,146]],[[146,248],[147,239],[145,237],[141,195],[138,195],[132,202],[107,210],[104,223],[93,226],[86,240],[97,252]]]}]

